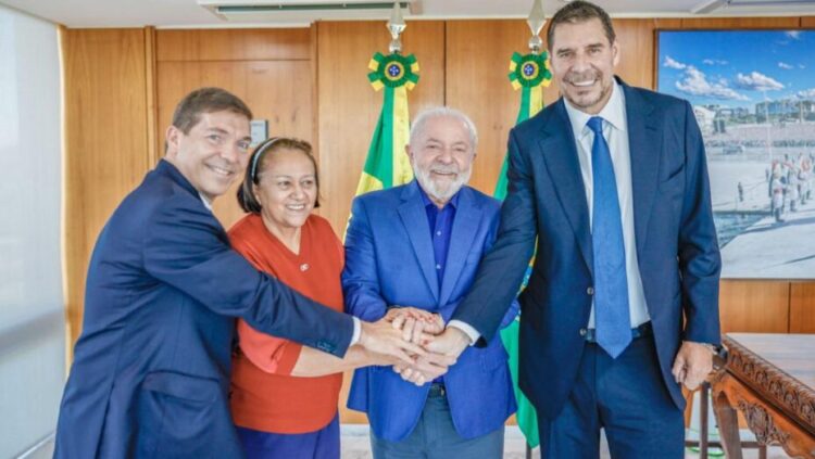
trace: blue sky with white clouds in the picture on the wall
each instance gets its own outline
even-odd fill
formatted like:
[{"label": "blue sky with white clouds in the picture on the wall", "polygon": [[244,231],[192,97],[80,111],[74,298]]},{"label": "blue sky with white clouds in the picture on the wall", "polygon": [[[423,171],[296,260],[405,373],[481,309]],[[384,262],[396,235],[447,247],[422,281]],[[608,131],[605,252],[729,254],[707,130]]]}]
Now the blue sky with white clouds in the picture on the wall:
[{"label": "blue sky with white clouds in the picture on the wall", "polygon": [[663,30],[659,43],[659,91],[694,105],[815,100],[815,31]]}]

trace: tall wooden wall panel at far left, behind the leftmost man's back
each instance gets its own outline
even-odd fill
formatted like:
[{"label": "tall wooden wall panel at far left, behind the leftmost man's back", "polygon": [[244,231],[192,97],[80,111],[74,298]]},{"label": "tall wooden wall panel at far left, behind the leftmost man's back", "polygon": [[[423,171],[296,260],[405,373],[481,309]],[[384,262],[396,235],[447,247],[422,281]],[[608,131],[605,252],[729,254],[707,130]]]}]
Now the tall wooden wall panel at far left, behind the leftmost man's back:
[{"label": "tall wooden wall panel at far left, behind the leftmost man's back", "polygon": [[148,170],[145,30],[63,29],[65,266],[71,348],[99,231]]}]

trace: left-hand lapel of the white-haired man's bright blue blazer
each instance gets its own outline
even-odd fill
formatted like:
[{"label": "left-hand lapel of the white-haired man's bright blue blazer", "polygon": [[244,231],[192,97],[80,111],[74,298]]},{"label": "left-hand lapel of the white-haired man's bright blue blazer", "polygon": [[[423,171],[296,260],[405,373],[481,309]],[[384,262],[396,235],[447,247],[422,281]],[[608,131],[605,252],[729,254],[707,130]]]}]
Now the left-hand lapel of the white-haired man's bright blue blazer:
[{"label": "left-hand lapel of the white-haired man's bright blue blazer", "polygon": [[422,268],[425,281],[427,281],[427,286],[432,292],[434,298],[438,301],[439,281],[436,277],[430,229],[427,222],[427,213],[422,203],[422,196],[418,194],[418,184],[415,180],[404,188],[402,204],[399,205],[398,212],[413,246],[413,253],[416,256],[418,266]]}]

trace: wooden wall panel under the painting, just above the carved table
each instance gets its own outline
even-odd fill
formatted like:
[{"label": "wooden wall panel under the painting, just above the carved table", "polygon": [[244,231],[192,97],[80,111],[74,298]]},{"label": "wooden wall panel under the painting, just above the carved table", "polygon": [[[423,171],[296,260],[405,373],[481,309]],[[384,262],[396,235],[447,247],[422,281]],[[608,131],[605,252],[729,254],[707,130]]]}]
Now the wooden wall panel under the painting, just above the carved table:
[{"label": "wooden wall panel under the painting, just above the carved table", "polygon": [[789,331],[790,283],[723,280],[719,291],[722,333]]}]

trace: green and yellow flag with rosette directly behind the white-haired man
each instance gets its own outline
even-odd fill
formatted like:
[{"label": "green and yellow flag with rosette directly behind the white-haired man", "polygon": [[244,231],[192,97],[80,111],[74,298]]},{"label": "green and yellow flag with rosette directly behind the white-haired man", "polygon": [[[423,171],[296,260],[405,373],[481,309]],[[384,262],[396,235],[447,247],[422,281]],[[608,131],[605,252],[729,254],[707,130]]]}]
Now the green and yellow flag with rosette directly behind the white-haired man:
[{"label": "green and yellow flag with rosette directly behind the white-haired man", "polygon": [[418,82],[418,62],[413,54],[377,52],[368,63],[368,81],[375,90],[385,89],[383,111],[371,139],[356,194],[381,190],[413,180],[413,169],[404,153],[410,136],[408,91]]}]

